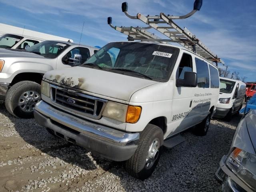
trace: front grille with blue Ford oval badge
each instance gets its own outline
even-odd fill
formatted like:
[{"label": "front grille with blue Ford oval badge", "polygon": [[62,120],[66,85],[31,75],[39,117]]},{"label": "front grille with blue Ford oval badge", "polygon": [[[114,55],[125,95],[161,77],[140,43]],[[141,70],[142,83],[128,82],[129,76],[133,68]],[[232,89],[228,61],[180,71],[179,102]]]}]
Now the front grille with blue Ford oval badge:
[{"label": "front grille with blue Ford oval badge", "polygon": [[52,101],[64,109],[70,109],[72,112],[98,118],[102,114],[102,109],[106,102],[93,96],[80,92],[69,91],[66,88],[51,86]]}]

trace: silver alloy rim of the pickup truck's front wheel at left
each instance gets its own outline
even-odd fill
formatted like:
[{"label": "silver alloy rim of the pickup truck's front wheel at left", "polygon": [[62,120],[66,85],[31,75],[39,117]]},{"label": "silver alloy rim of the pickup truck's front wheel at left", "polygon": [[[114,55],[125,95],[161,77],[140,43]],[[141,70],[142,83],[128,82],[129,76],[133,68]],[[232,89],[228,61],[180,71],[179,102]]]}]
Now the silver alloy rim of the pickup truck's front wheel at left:
[{"label": "silver alloy rim of the pickup truck's front wheel at left", "polygon": [[19,99],[18,105],[20,109],[25,112],[32,112],[36,104],[41,100],[40,94],[36,91],[26,91]]}]

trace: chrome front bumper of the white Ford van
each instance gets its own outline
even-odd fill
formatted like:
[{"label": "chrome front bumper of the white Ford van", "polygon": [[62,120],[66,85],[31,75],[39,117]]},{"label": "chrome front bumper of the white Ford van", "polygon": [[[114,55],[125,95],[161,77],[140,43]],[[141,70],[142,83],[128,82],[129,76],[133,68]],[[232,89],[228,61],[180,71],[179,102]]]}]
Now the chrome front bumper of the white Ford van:
[{"label": "chrome front bumper of the white Ford van", "polygon": [[114,161],[128,160],[136,151],[139,133],[127,133],[62,112],[44,101],[34,110],[39,125],[69,142]]}]

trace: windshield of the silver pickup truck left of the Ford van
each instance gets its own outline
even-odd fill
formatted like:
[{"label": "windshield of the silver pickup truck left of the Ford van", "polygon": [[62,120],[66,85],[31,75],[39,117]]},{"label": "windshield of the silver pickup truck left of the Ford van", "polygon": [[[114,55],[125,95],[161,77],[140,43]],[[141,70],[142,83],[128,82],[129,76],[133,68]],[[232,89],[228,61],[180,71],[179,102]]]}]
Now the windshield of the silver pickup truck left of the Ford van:
[{"label": "windshield of the silver pickup truck left of the Ford van", "polygon": [[57,41],[43,41],[27,48],[26,50],[28,52],[42,55],[46,58],[56,58],[69,46],[70,45],[68,44]]}]

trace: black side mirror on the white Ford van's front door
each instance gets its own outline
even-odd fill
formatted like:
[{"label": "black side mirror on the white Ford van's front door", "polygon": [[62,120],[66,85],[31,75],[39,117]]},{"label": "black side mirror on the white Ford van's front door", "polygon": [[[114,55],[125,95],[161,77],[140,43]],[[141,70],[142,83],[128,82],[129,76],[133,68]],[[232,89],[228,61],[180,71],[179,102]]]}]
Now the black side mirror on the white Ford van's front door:
[{"label": "black side mirror on the white Ford van's front door", "polygon": [[176,87],[196,87],[197,75],[195,72],[186,71],[184,79],[176,79]]}]

